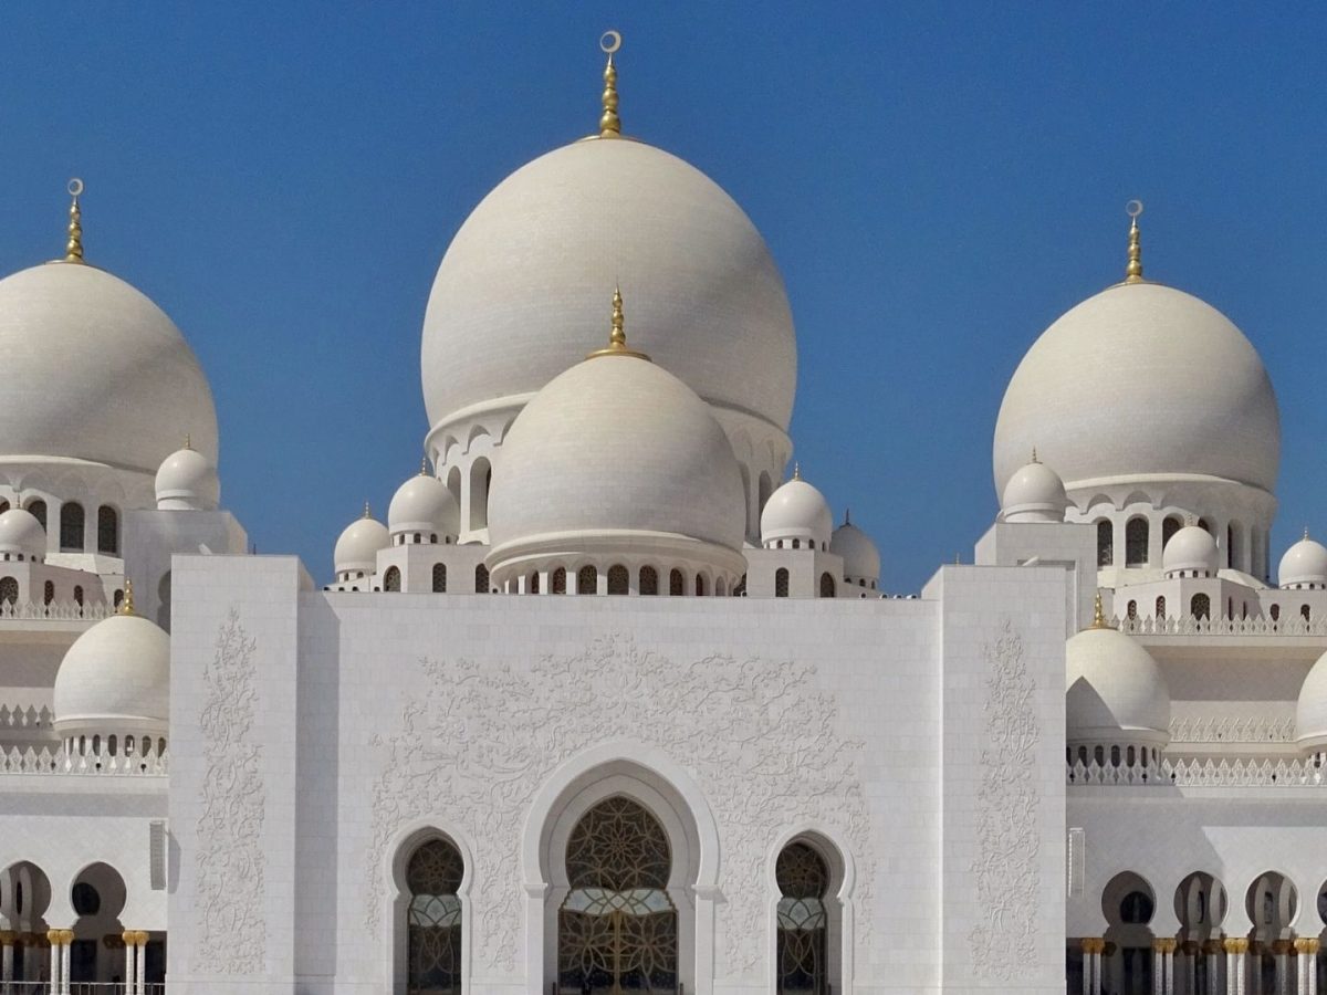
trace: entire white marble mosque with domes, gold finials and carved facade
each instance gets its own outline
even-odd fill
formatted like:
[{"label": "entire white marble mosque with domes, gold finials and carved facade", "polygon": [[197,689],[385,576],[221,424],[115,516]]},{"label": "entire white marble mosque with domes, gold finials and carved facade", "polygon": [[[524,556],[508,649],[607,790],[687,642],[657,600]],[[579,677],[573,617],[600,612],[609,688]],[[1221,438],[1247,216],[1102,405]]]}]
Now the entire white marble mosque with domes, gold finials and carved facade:
[{"label": "entire white marble mosque with domes, gold finials and carved facade", "polygon": [[1273,573],[1254,345],[1135,204],[974,563],[888,596],[792,463],[779,269],[624,134],[618,42],[456,231],[425,463],[330,564],[249,555],[81,183],[0,280],[0,995],[1316,992],[1327,548]]}]

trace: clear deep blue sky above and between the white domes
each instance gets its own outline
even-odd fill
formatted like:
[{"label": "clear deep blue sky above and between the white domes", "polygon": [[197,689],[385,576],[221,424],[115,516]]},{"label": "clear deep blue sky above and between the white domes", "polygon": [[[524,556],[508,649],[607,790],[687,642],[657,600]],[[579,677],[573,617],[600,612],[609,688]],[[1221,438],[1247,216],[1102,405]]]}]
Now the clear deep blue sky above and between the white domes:
[{"label": "clear deep blue sky above and between the white domes", "polygon": [[625,130],[729,190],[783,269],[796,455],[888,589],[970,559],[1005,385],[1120,279],[1133,196],[1148,276],[1271,373],[1277,555],[1327,535],[1320,5],[9,3],[0,272],[57,253],[82,176],[89,260],[211,379],[224,503],[326,580],[341,527],[418,468],[447,243],[593,127],[609,27]]}]

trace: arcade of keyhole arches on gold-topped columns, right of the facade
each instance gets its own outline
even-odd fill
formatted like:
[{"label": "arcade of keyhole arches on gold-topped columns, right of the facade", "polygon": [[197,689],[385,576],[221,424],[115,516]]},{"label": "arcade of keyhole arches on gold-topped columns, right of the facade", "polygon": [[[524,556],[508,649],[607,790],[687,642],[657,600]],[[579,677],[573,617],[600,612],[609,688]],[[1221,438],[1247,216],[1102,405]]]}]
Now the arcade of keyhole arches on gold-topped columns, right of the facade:
[{"label": "arcade of keyhole arches on gold-topped columns, right of the facade", "polygon": [[[1173,894],[1178,930],[1157,934],[1162,918],[1152,885],[1124,872],[1107,884],[1101,937],[1071,938],[1071,995],[1316,995],[1327,991],[1327,882],[1312,907],[1285,874],[1269,870],[1243,893],[1245,915],[1230,914],[1225,885],[1194,872]],[[1235,925],[1239,923],[1239,925]],[[1249,930],[1239,931],[1243,925]]]}]

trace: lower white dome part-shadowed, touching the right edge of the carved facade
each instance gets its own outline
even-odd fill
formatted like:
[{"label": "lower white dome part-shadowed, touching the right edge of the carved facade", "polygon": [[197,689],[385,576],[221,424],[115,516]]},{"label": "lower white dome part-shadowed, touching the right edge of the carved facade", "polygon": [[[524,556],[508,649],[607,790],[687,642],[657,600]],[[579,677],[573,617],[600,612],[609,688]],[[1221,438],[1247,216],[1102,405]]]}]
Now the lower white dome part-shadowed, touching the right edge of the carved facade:
[{"label": "lower white dome part-shadowed, touching the right edge of the carved facade", "polygon": [[1064,646],[1070,743],[1170,742],[1170,693],[1161,669],[1135,639],[1109,628],[1084,629]]}]

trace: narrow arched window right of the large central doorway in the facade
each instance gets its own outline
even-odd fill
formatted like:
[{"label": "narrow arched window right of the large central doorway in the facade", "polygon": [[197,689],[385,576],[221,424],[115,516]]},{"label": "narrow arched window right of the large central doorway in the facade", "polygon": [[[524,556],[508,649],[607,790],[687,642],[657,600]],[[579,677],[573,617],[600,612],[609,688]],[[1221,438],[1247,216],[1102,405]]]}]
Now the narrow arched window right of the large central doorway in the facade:
[{"label": "narrow arched window right of the large central doorway in the facade", "polygon": [[779,935],[775,991],[827,995],[829,991],[829,868],[815,848],[791,842],[775,862]]}]

